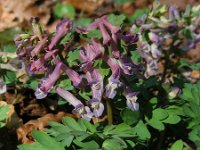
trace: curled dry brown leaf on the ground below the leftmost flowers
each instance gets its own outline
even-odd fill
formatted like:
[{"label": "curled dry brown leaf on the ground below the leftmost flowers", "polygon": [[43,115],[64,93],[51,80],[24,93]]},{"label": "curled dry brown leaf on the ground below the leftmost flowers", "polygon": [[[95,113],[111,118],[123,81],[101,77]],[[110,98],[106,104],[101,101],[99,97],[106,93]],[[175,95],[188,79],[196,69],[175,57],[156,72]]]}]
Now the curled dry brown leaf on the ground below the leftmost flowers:
[{"label": "curled dry brown leaf on the ground below the leftmost flowers", "polygon": [[49,121],[60,122],[64,116],[78,118],[78,116],[73,114],[58,112],[57,114],[47,114],[41,118],[38,118],[37,120],[30,120],[17,129],[18,140],[24,144],[34,142],[31,136],[32,130],[44,130],[48,126]]}]

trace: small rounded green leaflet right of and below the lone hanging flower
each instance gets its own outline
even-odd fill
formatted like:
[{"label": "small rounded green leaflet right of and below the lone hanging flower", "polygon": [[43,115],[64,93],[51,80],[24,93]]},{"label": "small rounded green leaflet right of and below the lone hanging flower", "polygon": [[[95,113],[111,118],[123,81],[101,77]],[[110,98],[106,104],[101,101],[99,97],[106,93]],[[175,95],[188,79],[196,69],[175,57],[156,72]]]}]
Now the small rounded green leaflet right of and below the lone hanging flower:
[{"label": "small rounded green leaflet right of and below the lone hanging flower", "polygon": [[168,116],[169,115],[168,115],[167,111],[162,108],[157,108],[157,109],[153,110],[153,118],[156,120],[164,120]]}]

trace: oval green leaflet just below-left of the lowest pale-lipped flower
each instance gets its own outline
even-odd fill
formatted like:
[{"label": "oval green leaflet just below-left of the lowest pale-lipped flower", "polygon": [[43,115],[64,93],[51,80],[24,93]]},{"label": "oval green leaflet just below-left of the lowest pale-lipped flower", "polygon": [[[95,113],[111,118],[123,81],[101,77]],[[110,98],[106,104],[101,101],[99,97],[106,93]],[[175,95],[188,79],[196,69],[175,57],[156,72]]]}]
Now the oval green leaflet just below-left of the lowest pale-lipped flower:
[{"label": "oval green leaflet just below-left of the lowest pale-lipped flower", "polygon": [[62,119],[62,122],[64,125],[68,126],[69,128],[76,130],[76,131],[82,131],[79,124],[71,117],[64,117]]}]

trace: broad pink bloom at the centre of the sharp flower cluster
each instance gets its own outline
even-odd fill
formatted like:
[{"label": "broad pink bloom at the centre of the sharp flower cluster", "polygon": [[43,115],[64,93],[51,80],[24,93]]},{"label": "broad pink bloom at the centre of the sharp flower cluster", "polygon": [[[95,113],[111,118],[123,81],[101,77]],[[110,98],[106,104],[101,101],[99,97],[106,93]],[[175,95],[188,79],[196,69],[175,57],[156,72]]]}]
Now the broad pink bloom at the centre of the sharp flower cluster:
[{"label": "broad pink bloom at the centre of the sharp flower cluster", "polygon": [[84,71],[89,71],[92,69],[92,64],[96,59],[103,56],[104,48],[95,39],[92,39],[91,44],[87,44],[81,51],[80,57],[83,60],[82,68]]}]

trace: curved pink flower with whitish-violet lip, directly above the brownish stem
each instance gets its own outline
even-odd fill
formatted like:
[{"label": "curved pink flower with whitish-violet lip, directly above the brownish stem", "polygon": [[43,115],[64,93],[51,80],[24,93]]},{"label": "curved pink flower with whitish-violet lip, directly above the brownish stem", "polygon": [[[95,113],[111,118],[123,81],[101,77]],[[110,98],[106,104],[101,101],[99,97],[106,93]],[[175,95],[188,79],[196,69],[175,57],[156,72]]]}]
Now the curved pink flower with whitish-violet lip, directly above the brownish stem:
[{"label": "curved pink flower with whitish-violet lip, directly above the brownish stem", "polygon": [[119,80],[121,71],[117,60],[114,58],[108,59],[108,65],[112,70],[112,75],[108,78],[108,84],[106,85],[106,96],[113,99],[117,94],[116,89],[122,84]]}]

